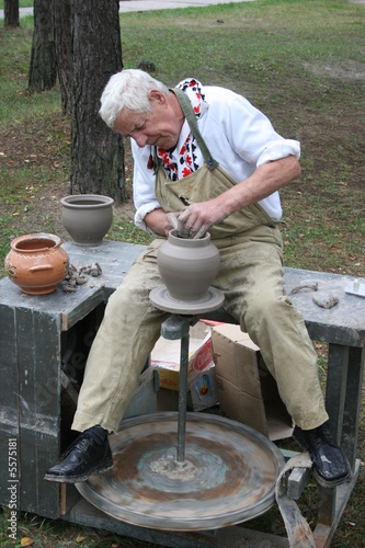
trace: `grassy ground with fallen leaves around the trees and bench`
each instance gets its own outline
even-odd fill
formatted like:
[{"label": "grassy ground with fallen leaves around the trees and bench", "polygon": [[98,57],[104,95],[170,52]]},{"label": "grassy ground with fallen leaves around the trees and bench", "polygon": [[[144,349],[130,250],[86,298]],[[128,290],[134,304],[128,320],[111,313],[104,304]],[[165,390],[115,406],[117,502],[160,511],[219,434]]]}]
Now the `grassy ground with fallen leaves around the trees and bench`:
[{"label": "grassy ground with fallen leaves around the trees and bench", "polygon": [[[265,112],[278,133],[300,140],[303,174],[281,193],[288,266],[365,276],[364,14],[364,5],[345,0],[258,0],[121,16],[125,68],[151,60],[155,76],[169,85],[194,76],[231,88]],[[0,58],[1,262],[11,239],[25,231],[68,238],[59,198],[69,193],[70,121],[61,116],[57,88],[42,94],[26,91],[32,33],[32,18],[22,19],[18,30],[0,28],[0,47],[7,52]],[[127,142],[126,170],[130,193]],[[130,201],[115,208],[109,237],[148,242],[134,227],[133,215]],[[317,350],[324,383],[327,346],[317,343]],[[362,413],[362,460],[364,421]],[[316,486],[309,484],[300,500],[311,525],[316,496]],[[362,467],[331,546],[364,546],[364,501]],[[0,544],[10,546],[4,520]],[[275,509],[250,526],[285,534]],[[34,546],[138,546],[31,515],[22,518],[20,534]]]}]

